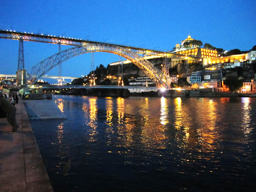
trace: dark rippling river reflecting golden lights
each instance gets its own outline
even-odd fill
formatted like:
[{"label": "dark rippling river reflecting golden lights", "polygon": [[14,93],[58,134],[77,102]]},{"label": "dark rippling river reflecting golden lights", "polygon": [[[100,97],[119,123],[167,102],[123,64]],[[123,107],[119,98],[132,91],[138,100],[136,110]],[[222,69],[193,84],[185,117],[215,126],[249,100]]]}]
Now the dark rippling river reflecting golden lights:
[{"label": "dark rippling river reflecting golden lights", "polygon": [[256,98],[53,97],[32,121],[55,192],[255,191]]}]

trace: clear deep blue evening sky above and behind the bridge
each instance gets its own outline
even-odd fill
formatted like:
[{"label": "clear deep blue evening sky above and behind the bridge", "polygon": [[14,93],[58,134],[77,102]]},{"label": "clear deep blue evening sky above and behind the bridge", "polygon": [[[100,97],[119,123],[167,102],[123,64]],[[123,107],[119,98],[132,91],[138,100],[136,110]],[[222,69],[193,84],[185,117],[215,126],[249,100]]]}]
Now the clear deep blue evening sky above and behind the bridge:
[{"label": "clear deep blue evening sky above and behind the bridge", "polygon": [[[214,47],[256,45],[256,0],[0,0],[0,29],[89,39],[162,51],[191,35]],[[17,71],[19,41],[0,38],[0,74]],[[61,46],[68,49],[69,46]],[[58,45],[24,42],[25,68],[58,52]],[[95,53],[95,67],[119,61]],[[62,64],[62,76],[90,72],[90,54]],[[48,75],[58,75],[56,67]]]}]

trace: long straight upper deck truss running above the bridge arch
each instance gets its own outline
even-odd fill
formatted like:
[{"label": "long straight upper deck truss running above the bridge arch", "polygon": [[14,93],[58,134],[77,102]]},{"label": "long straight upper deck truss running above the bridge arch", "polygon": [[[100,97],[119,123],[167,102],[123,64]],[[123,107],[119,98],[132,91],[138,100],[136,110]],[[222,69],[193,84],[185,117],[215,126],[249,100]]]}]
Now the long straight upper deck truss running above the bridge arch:
[{"label": "long straight upper deck truss running above the bridge arch", "polygon": [[13,39],[13,40],[23,40],[23,41],[36,41],[36,42],[44,42],[50,44],[62,44],[62,45],[73,45],[73,46],[81,46],[81,45],[89,45],[89,44],[105,44],[109,46],[118,46],[129,51],[135,52],[137,54],[142,55],[157,55],[161,57],[167,58],[178,58],[183,60],[190,60],[190,61],[201,61],[201,58],[180,55],[171,52],[163,52],[157,51],[153,49],[143,49],[139,47],[132,47],[132,46],[125,46],[125,45],[118,45],[118,44],[106,44],[97,41],[89,41],[89,40],[82,40],[77,38],[70,38],[70,37],[59,37],[55,35],[47,35],[47,34],[33,34],[27,32],[14,32],[14,31],[7,31],[7,30],[0,30],[0,38],[6,39]]}]

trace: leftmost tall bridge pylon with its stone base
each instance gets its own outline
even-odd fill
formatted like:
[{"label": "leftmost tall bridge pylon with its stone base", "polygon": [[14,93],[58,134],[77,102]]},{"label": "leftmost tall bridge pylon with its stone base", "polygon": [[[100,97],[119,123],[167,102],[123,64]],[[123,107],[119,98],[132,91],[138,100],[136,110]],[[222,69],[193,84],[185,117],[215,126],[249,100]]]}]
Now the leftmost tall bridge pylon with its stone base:
[{"label": "leftmost tall bridge pylon with its stone base", "polygon": [[27,72],[24,69],[24,49],[23,49],[23,40],[20,40],[19,44],[19,58],[18,58],[18,70],[16,72],[16,82],[17,85],[24,87],[28,86],[27,83]]}]

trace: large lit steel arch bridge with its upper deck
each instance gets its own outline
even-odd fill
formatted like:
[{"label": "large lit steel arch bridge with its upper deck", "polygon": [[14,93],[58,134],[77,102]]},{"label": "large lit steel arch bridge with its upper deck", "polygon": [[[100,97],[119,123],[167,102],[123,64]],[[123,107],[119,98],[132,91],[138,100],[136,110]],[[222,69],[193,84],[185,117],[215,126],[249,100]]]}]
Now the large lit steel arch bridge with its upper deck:
[{"label": "large lit steel arch bridge with its upper deck", "polygon": [[152,49],[143,49],[125,45],[100,43],[96,41],[88,41],[70,37],[56,37],[55,35],[47,34],[33,34],[29,32],[0,30],[0,38],[20,41],[18,70],[24,69],[23,41],[36,41],[59,44],[59,46],[61,44],[76,46],[71,49],[66,49],[64,51],[60,51],[59,47],[59,52],[57,54],[50,56],[49,58],[41,61],[40,63],[32,67],[31,71],[29,71],[29,76],[32,80],[32,84],[34,84],[38,79],[44,76],[45,73],[49,72],[49,70],[52,70],[52,68],[56,67],[62,62],[67,61],[68,59],[77,55],[88,52],[110,52],[130,60],[132,63],[137,65],[137,67],[139,67],[145,74],[147,74],[147,76],[154,82],[154,84],[156,84],[157,88],[168,87],[166,83],[168,75],[166,71],[165,73],[160,72],[160,70],[158,70],[153,64],[151,64],[141,55],[157,55],[166,58],[179,58],[183,60],[201,61],[201,58],[179,55],[176,53],[163,52]]}]

